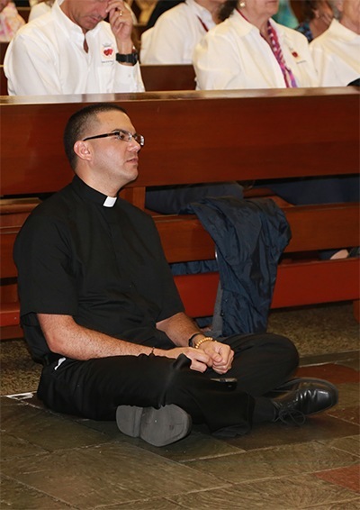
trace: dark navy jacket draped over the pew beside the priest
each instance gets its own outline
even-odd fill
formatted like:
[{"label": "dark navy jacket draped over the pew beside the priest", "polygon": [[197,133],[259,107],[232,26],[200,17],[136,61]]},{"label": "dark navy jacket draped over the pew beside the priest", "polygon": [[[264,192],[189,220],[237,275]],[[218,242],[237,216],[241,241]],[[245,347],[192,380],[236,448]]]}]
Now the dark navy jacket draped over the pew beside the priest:
[{"label": "dark navy jacket draped over the pew beside the priest", "polygon": [[222,336],[266,332],[277,264],[291,239],[284,212],[270,199],[205,198],[198,216],[216,244]]}]

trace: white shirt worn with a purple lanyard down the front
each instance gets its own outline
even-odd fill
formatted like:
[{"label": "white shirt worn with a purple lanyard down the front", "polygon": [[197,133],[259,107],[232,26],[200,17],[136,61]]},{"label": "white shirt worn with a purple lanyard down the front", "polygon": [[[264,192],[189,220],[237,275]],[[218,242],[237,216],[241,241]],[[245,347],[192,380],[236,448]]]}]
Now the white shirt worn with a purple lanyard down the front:
[{"label": "white shirt worn with a purple lanyard down the front", "polygon": [[[317,87],[309,43],[302,33],[275,23],[284,60],[297,87]],[[193,54],[198,87],[203,90],[284,88],[284,75],[260,31],[234,11],[202,38]]]}]

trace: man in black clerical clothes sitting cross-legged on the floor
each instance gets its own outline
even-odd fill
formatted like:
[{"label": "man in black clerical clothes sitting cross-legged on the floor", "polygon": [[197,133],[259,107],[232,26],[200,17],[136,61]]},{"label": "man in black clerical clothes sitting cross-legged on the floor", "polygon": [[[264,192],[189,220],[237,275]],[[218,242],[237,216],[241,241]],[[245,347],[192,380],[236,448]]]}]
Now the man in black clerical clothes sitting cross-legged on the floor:
[{"label": "man in black clerical clothes sitting cross-legged on the floor", "polygon": [[33,211],[14,247],[45,405],[116,419],[122,433],[162,446],[192,422],[236,435],[337,403],[326,381],[289,380],[298,365],[290,340],[215,340],[184,314],[153,220],[118,198],[144,144],[119,105],[79,110],[64,141],[75,177]]}]

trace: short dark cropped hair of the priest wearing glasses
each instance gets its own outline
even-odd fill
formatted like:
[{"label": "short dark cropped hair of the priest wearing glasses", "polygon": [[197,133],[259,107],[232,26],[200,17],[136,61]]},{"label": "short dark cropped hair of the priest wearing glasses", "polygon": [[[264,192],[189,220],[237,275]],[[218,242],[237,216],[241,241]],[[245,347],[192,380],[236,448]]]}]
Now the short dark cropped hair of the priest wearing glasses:
[{"label": "short dark cropped hair of the priest wearing glasses", "polygon": [[72,114],[67,121],[67,125],[64,130],[64,148],[67,155],[67,159],[71,165],[71,168],[76,168],[76,153],[74,152],[74,145],[76,141],[85,138],[88,133],[89,127],[92,123],[96,122],[97,114],[103,112],[111,112],[112,110],[118,110],[122,114],[126,114],[126,111],[121,106],[114,103],[96,103],[94,105],[88,105],[81,110],[78,110],[75,114]]}]

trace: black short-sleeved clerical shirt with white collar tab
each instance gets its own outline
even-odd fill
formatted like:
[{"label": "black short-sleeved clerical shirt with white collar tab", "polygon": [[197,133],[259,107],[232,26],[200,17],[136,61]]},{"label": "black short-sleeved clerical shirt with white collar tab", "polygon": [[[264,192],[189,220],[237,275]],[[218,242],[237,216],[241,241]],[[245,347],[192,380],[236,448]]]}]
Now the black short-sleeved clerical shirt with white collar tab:
[{"label": "black short-sleeved clerical shirt with white collar tab", "polygon": [[184,311],[148,214],[75,177],[39,205],[14,246],[21,320],[34,359],[49,354],[36,317],[76,323],[130,342],[171,342],[158,321]]}]

